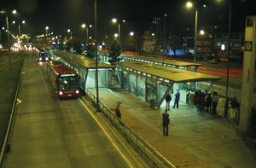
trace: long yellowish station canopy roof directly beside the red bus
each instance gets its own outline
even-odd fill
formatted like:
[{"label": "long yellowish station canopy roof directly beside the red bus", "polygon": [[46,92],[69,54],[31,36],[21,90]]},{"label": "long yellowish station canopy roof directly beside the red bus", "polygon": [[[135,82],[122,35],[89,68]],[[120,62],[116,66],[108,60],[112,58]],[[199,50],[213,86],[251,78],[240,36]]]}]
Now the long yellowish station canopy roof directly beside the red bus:
[{"label": "long yellowish station canopy roof directly beside the red bus", "polygon": [[[53,51],[54,54],[56,56],[61,57],[62,59],[69,61],[69,62],[73,62],[76,63],[82,67],[86,67],[88,69],[96,69],[96,61],[93,59],[90,59],[86,56],[83,55],[74,55],[72,53],[67,53],[65,51],[61,51],[61,50],[54,50]],[[110,64],[106,64],[103,62],[98,62],[98,68],[114,68],[113,65]]]}]

